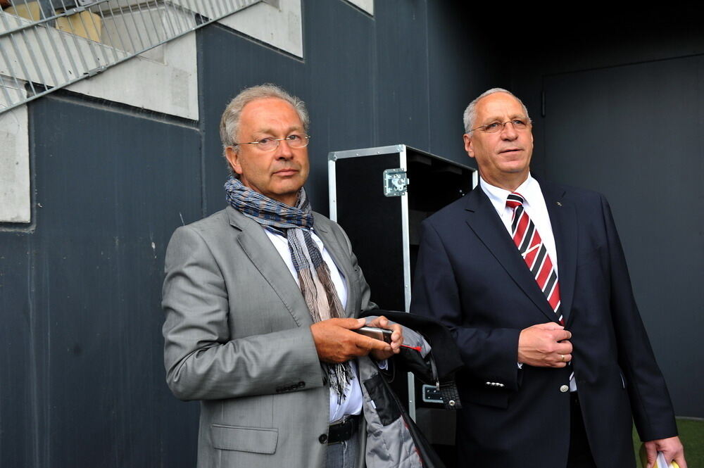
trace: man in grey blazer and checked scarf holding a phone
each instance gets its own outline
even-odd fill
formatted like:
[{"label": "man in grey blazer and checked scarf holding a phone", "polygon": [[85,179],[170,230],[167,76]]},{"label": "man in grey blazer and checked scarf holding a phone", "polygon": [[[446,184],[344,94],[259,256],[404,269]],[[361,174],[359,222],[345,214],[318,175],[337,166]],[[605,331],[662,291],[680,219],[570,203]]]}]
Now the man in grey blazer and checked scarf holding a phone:
[{"label": "man in grey blazer and checked scarf holding a phone", "polygon": [[346,234],[310,209],[307,130],[300,99],[241,91],[220,123],[229,205],[168,246],[165,367],[201,400],[199,467],[363,466],[358,362],[403,337],[384,317],[368,325],[391,344],[353,332],[375,305]]}]

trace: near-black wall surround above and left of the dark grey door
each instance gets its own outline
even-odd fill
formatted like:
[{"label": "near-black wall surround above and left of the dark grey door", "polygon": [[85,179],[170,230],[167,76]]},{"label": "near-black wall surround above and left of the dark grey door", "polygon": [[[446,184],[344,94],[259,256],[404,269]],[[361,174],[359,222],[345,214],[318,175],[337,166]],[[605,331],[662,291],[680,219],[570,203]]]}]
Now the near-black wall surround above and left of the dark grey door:
[{"label": "near-black wall surround above and left of the dark grey door", "polygon": [[[513,11],[531,25],[510,46],[510,88],[526,103],[536,139],[532,167],[544,175],[541,125],[543,79],[549,75],[596,70],[704,53],[696,4],[677,8],[630,8],[612,3],[580,8],[577,20],[555,21],[526,4]],[[522,27],[522,25],[521,25]]]}]

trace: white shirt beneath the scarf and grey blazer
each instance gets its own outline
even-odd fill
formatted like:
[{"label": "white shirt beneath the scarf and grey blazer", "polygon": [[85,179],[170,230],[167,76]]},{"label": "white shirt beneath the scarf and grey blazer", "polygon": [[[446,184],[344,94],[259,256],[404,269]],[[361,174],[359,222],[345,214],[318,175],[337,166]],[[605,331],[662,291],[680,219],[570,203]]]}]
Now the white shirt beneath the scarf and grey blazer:
[{"label": "white shirt beneath the scarf and grey blazer", "polygon": [[[289,251],[289,241],[285,237],[273,234],[272,232],[266,229],[264,229],[264,232],[269,237],[271,243],[274,244],[274,247],[279,252],[279,255],[281,255],[282,260],[284,260],[286,266],[289,267],[291,276],[294,277],[296,284],[298,284],[298,287],[300,287],[301,284],[298,283],[298,274],[296,274],[294,262],[293,260],[291,260],[291,251]],[[322,240],[320,240],[320,237],[318,237],[315,232],[311,232],[310,236],[313,238],[313,241],[315,241],[315,245],[318,246],[318,248],[320,249],[320,253],[322,254],[322,260],[327,264],[327,269],[330,270],[330,279],[332,280],[332,284],[335,286],[335,292],[337,293],[337,297],[339,297],[340,299],[340,303],[343,306],[346,305],[347,285],[345,283],[344,278],[342,277],[342,273],[337,268],[337,265],[335,265],[335,263],[332,261],[332,257],[328,253],[325,246],[322,244]],[[349,361],[349,363],[353,371],[353,380],[348,384],[347,388],[345,389],[346,398],[342,400],[340,404],[338,404],[337,393],[335,393],[334,391],[330,391],[330,422],[335,422],[339,419],[342,419],[342,417],[346,415],[359,415],[362,412],[362,388],[360,387],[359,379],[357,378],[357,363],[354,360]]]}]

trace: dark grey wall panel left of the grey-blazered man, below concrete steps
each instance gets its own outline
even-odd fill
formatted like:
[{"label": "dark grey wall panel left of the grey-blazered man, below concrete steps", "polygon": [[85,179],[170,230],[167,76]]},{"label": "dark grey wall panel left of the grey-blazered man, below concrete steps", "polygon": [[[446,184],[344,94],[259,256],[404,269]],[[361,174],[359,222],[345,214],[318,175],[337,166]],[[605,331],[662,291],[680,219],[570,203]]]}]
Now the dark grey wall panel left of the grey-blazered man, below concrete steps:
[{"label": "dark grey wall panel left of the grey-blazered man, below concrete steps", "polygon": [[2,384],[1,464],[192,466],[196,408],[164,384],[160,303],[170,234],[200,212],[199,134],[56,96],[32,103],[30,126],[36,229],[0,233],[2,289],[18,291],[2,294],[17,377]]}]

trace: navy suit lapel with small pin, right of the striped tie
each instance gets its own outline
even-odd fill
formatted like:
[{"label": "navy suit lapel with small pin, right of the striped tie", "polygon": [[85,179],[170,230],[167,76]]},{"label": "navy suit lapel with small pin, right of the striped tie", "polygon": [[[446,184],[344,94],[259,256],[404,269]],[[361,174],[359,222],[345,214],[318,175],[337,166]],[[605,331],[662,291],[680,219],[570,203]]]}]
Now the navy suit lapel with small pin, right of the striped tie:
[{"label": "navy suit lapel with small pin, right of the striped tie", "polygon": [[560,309],[565,324],[569,324],[577,273],[577,213],[574,205],[565,201],[565,190],[539,182],[550,216],[558,252],[558,281],[560,282]]}]

